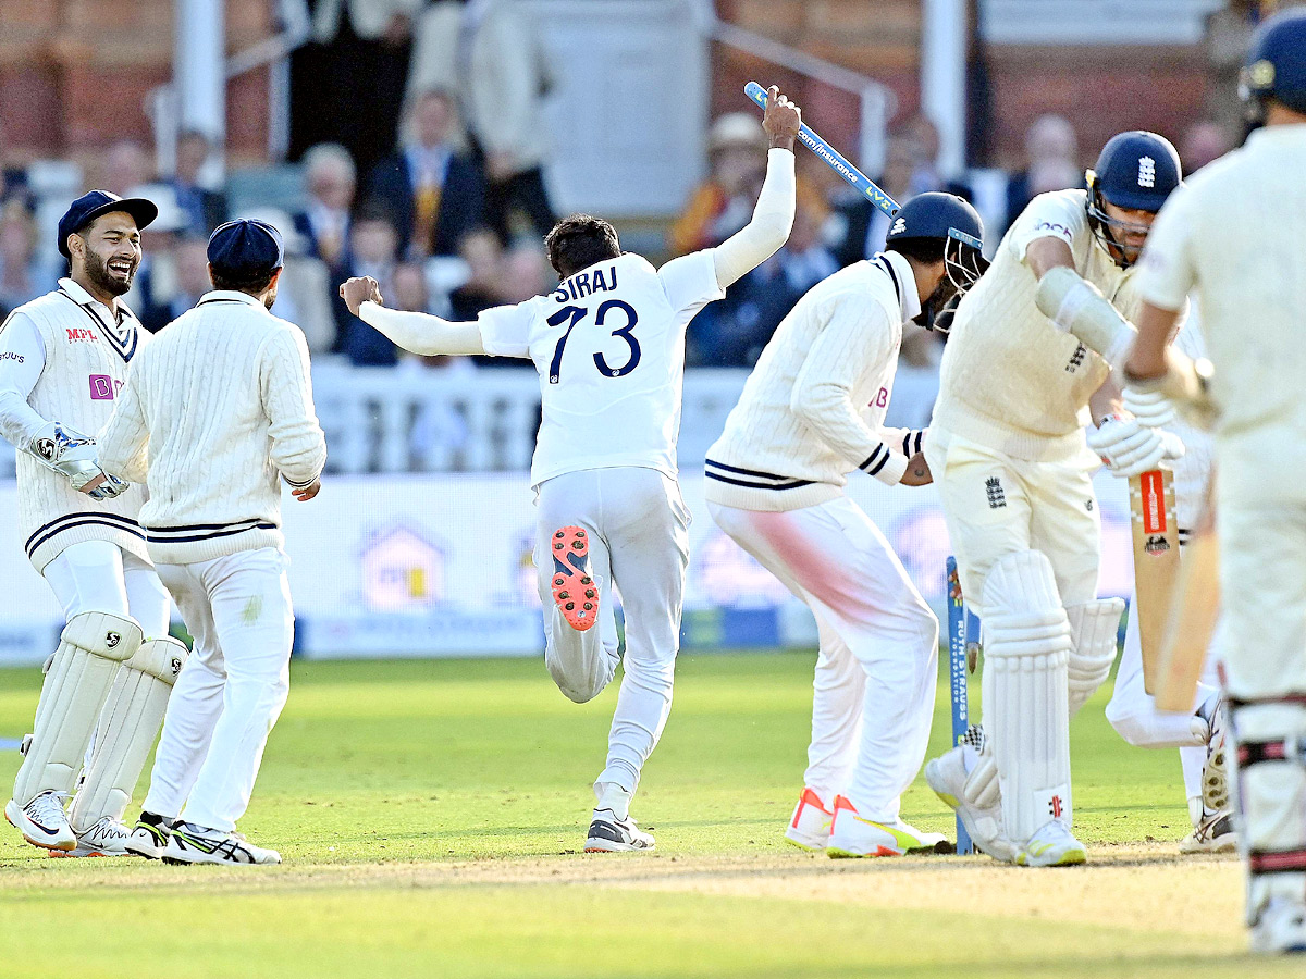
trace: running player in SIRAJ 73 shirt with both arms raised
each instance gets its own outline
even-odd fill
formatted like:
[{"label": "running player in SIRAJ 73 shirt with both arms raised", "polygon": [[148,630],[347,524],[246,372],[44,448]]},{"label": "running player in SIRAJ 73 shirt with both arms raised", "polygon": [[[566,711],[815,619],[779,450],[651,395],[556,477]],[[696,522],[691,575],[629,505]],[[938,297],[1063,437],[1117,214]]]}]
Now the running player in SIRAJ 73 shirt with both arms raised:
[{"label": "running player in SIRAJ 73 shirt with both arms raised", "polygon": [[671,709],[679,647],[690,522],[675,467],[684,330],[789,238],[799,125],[798,107],[772,87],[767,178],[752,221],[661,269],[622,252],[606,221],[577,214],[545,240],[558,287],[487,309],[477,322],[387,309],[375,279],[341,286],[350,312],[405,350],[525,358],[539,371],[535,567],[545,663],[568,698],[593,700],[616,670],[614,585],[626,612],[626,677],[586,851],[653,848],[629,803]]}]

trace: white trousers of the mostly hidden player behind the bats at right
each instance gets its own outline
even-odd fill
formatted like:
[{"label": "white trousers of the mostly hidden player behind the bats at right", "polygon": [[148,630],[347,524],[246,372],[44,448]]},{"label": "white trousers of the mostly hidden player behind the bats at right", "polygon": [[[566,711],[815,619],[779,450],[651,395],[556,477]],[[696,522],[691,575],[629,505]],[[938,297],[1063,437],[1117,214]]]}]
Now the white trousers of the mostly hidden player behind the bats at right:
[{"label": "white trousers of the mostly hidden player behind the bats at right", "polygon": [[[1218,638],[1220,630],[1216,632]],[[1212,646],[1218,649],[1220,644]],[[1156,701],[1143,687],[1143,644],[1139,637],[1136,602],[1130,602],[1128,625],[1124,629],[1124,651],[1115,672],[1115,689],[1106,705],[1106,719],[1126,741],[1136,748],[1178,748],[1183,768],[1185,798],[1202,795],[1202,768],[1205,765],[1205,743],[1192,732],[1194,711],[1220,693],[1216,676],[1217,657],[1207,655],[1202,680],[1192,701],[1192,711],[1174,714],[1156,709]]]}]

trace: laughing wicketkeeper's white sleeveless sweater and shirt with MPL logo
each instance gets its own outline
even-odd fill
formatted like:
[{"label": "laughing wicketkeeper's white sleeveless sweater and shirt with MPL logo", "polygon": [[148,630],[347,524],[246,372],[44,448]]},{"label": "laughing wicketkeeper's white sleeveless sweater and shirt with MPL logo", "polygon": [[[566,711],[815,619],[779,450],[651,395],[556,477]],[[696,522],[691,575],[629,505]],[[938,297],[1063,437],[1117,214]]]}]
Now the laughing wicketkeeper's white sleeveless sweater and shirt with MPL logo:
[{"label": "laughing wicketkeeper's white sleeveless sweater and shirt with MPL logo", "polygon": [[[118,304],[119,319],[72,279],[20,305],[0,326],[0,431],[25,449],[47,422],[95,437],[121,397],[128,364],[150,334]],[[69,544],[108,540],[149,560],[137,514],[145,499],[132,486],[93,500],[26,452],[17,454],[18,531],[42,570]]]}]

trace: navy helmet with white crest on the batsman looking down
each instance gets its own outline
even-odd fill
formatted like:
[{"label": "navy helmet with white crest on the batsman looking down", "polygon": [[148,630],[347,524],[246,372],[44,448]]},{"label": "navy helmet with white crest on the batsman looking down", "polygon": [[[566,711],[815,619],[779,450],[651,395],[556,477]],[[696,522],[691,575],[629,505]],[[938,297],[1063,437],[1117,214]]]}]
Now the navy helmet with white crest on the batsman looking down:
[{"label": "navy helmet with white crest on the batsman looking down", "polygon": [[1088,180],[1088,223],[1097,240],[1122,268],[1138,261],[1141,244],[1128,236],[1147,235],[1147,225],[1118,221],[1104,204],[1156,214],[1182,180],[1179,154],[1164,136],[1143,129],[1117,133],[1102,148]]}]

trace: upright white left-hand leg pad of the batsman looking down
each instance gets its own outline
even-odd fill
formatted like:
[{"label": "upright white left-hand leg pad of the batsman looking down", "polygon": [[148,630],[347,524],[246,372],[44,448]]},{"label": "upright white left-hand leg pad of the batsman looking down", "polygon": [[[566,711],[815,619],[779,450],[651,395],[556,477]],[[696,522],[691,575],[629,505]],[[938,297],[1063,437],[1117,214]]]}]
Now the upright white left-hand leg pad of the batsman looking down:
[{"label": "upright white left-hand leg pad of the batsman looking down", "polygon": [[1067,662],[1070,621],[1051,564],[1006,555],[985,581],[985,732],[1007,837],[1020,846],[1051,820],[1072,822]]}]

